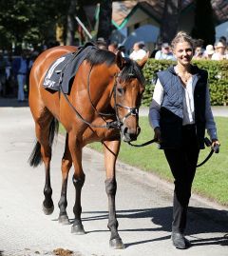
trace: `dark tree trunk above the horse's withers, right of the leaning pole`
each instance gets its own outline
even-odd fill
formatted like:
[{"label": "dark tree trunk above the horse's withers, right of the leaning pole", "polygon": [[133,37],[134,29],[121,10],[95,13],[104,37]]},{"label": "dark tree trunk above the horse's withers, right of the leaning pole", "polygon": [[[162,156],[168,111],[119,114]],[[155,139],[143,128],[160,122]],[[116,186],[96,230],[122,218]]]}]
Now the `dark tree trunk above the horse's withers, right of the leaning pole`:
[{"label": "dark tree trunk above the horse's withers, right of the leaning pole", "polygon": [[112,1],[101,0],[97,38],[103,37],[109,43],[111,34]]}]

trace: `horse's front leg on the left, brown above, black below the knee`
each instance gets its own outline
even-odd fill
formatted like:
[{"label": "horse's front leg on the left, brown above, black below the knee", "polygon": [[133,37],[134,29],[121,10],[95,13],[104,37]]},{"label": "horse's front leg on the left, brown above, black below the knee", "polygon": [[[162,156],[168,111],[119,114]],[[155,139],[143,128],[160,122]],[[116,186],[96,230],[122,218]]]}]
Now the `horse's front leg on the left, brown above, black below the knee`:
[{"label": "horse's front leg on the left, brown above, black below the knee", "polygon": [[74,174],[72,180],[75,187],[75,204],[73,207],[75,218],[73,226],[71,227],[71,232],[81,235],[85,234],[84,226],[81,220],[81,191],[85,182],[85,173],[82,167],[82,145],[74,134],[69,133],[68,136],[68,146],[74,165]]}]

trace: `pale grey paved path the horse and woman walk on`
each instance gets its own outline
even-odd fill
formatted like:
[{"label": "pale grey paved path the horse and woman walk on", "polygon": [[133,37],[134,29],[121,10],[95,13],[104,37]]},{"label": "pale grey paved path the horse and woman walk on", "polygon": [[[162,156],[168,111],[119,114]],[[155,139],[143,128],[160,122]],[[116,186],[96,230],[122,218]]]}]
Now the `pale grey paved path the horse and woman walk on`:
[{"label": "pale grey paved path the horse and woman walk on", "polygon": [[[107,200],[104,192],[103,155],[84,150],[86,174],[83,221],[87,233],[76,236],[70,226],[57,222],[60,162],[63,140],[53,150],[51,181],[55,210],[43,214],[44,167],[28,167],[33,148],[33,122],[28,108],[0,108],[0,255],[53,255],[59,247],[82,256],[227,256],[228,208],[193,196],[187,237],[193,246],[178,250],[171,245],[172,185],[152,174],[118,164],[117,209],[120,235],[126,248],[108,246]],[[72,176],[72,170],[70,172]],[[68,184],[68,215],[73,218],[74,187]]]}]

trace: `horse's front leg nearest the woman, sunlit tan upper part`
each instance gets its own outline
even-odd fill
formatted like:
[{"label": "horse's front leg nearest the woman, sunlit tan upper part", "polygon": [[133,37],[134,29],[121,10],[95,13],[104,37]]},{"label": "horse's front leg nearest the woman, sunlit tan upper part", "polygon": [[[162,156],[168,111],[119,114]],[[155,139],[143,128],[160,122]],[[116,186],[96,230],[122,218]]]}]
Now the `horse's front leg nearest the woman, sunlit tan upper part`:
[{"label": "horse's front leg nearest the woman, sunlit tan upper part", "polygon": [[108,224],[111,231],[109,245],[113,248],[124,248],[122,239],[118,233],[118,221],[116,218],[115,197],[116,183],[116,160],[120,150],[120,141],[104,142],[104,165],[106,169],[105,189],[108,198]]}]

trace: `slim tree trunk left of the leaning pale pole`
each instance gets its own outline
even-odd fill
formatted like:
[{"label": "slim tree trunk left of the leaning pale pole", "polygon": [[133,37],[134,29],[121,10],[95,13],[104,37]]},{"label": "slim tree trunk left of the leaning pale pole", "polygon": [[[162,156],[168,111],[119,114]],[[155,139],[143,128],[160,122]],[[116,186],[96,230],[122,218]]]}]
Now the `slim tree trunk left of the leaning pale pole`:
[{"label": "slim tree trunk left of the leaning pale pole", "polygon": [[70,5],[67,14],[67,32],[66,32],[66,45],[73,46],[75,44],[74,36],[76,31],[76,7],[77,0],[70,0]]}]

